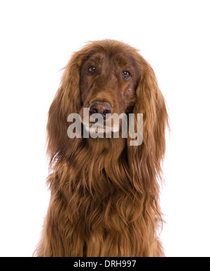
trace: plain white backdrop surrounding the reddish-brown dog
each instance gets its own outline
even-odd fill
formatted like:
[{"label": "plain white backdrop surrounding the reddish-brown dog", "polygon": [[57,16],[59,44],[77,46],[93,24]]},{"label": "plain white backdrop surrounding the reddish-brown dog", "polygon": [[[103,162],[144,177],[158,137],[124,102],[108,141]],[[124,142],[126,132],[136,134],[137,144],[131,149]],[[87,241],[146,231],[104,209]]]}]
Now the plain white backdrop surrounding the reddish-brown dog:
[{"label": "plain white backdrop surrounding the reddish-brown dog", "polygon": [[151,63],[169,109],[162,242],[210,256],[209,1],[0,2],[0,256],[31,256],[50,193],[45,125],[62,69],[86,41],[116,39]]}]

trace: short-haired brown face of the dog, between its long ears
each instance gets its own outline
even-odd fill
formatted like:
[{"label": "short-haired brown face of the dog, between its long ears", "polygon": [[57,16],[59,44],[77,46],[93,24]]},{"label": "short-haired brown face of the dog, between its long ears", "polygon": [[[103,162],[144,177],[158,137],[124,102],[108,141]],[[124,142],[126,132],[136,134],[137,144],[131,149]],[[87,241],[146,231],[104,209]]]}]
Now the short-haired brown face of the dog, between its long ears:
[{"label": "short-haired brown face of the dog, between its long ears", "polygon": [[[80,67],[81,103],[89,109],[90,115],[102,114],[104,122],[107,113],[117,113],[118,116],[129,113],[136,100],[138,80],[137,64],[127,52],[114,49],[109,52],[96,51],[88,55]],[[83,115],[82,111],[80,115]],[[112,132],[119,127],[113,125]]]}]

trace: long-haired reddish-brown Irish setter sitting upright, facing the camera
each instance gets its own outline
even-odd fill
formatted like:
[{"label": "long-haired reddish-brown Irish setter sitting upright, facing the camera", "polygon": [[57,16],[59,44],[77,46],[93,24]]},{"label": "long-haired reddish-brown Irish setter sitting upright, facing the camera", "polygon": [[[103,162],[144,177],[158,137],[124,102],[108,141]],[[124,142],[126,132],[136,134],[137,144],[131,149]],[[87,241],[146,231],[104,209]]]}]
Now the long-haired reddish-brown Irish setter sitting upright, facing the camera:
[{"label": "long-haired reddish-brown Irish setter sitting upright, facing the camera", "polygon": [[[85,126],[84,108],[104,123],[107,113],[133,113],[137,125],[143,114],[142,144],[132,146],[129,134],[113,137],[113,126],[109,138],[70,138],[67,118],[79,113]],[[158,229],[167,124],[154,71],[136,49],[104,40],[74,53],[48,112],[51,197],[35,255],[164,256]]]}]

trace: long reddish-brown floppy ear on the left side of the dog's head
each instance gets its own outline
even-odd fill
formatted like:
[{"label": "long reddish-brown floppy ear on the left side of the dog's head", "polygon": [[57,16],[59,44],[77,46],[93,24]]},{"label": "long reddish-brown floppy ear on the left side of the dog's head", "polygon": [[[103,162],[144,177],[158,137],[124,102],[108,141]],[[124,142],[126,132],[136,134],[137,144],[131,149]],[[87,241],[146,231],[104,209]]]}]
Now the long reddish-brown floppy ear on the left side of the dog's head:
[{"label": "long reddish-brown floppy ear on the left side of the dog's head", "polygon": [[82,53],[74,53],[64,68],[61,84],[48,111],[47,154],[50,165],[64,158],[69,147],[67,117],[80,110],[80,59]]}]

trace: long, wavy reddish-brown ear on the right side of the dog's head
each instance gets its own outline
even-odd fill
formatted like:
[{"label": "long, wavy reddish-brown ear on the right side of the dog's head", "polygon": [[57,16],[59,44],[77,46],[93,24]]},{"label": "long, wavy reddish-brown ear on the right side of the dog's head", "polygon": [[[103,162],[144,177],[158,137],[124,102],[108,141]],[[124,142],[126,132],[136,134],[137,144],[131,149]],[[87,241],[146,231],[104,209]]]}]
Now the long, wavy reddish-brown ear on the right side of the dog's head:
[{"label": "long, wavy reddish-brown ear on the right side of the dog's head", "polygon": [[140,79],[137,85],[137,102],[134,106],[135,123],[137,113],[143,113],[143,142],[140,146],[129,146],[128,159],[134,176],[134,186],[139,192],[155,197],[157,179],[161,179],[161,161],[165,155],[165,128],[168,115],[165,99],[151,66],[141,55],[138,57]]}]

